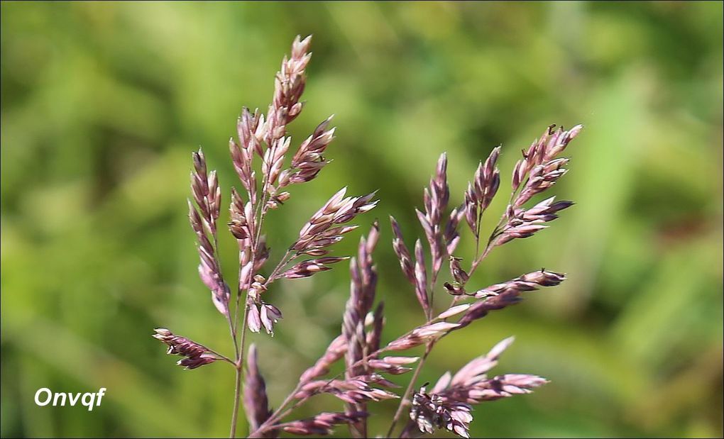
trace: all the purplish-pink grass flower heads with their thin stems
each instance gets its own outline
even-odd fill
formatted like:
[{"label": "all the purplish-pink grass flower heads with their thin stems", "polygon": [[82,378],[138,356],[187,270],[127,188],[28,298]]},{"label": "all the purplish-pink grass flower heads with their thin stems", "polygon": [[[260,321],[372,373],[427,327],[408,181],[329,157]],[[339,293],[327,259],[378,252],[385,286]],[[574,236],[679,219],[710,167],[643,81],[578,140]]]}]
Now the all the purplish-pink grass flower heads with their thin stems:
[{"label": "all the purplish-pink grass flower heads with their thin stems", "polygon": [[[487,239],[481,239],[481,222],[500,187],[497,169],[500,147],[494,148],[489,157],[481,161],[463,194],[462,203],[452,209],[448,209],[447,157],[445,154],[440,156],[429,187],[424,189],[424,211],[416,210],[426,245],[417,239],[413,250],[409,250],[400,226],[390,217],[394,236],[392,247],[420,304],[424,320],[416,328],[383,343],[384,306],[382,302],[375,305],[377,272],[372,259],[379,241],[378,223],[375,222],[369,234],[361,238],[355,257],[329,255],[332,244],[356,229],[357,226],[349,222],[375,207],[374,193],[348,197],[345,189],[341,189],[332,195],[301,227],[298,239],[290,244],[285,254],[278,255],[277,265],[271,270],[266,268],[271,256],[264,239],[266,216],[290,200],[289,187],[311,181],[329,163],[324,153],[334,140],[334,128],[328,128],[332,119],[329,117],[300,143],[293,155],[290,153],[292,140],[287,136],[287,125],[303,109],[300,97],[306,83],[306,65],[311,57],[309,43],[309,37],[295,39],[290,57],[285,57],[277,73],[269,110],[261,114],[258,110],[244,109],[237,123],[237,139],[230,140],[232,163],[242,187],[240,190],[232,188],[230,192],[228,229],[239,248],[238,288],[233,293],[224,281],[219,264],[217,221],[222,192],[216,172],[207,170],[201,150],[193,153],[193,200],[189,201],[189,218],[198,241],[201,260],[198,270],[203,284],[211,291],[216,309],[227,320],[235,356],[225,357],[165,328],[156,329],[154,337],[169,346],[169,354],[182,356],[179,364],[187,369],[216,361],[229,362],[235,367],[237,386],[232,437],[242,396],[250,437],[274,438],[282,431],[296,435],[327,435],[336,425],[348,425],[355,438],[369,437],[366,419],[371,412],[368,405],[392,398],[400,398],[400,404],[387,437],[392,435],[405,411],[408,414],[405,417],[409,419],[400,437],[434,434],[438,429],[468,437],[473,405],[529,393],[547,382],[536,375],[505,374],[492,378],[487,375],[513,338],[501,341],[488,354],[473,359],[455,375],[450,372],[442,375],[429,391],[426,385],[414,391],[415,381],[441,338],[490,311],[517,303],[526,291],[555,286],[565,280],[563,274],[538,270],[484,288],[468,286],[473,272],[495,247],[545,229],[560,210],[571,206],[571,202],[556,202],[550,197],[526,207],[533,197],[565,174],[568,158],[561,158],[560,154],[581,127],[570,130],[548,127],[523,152],[523,158],[515,164],[513,171],[508,208]],[[467,270],[461,265],[462,258],[455,256],[463,221],[476,244],[475,255]],[[340,336],[334,338],[316,363],[300,375],[298,385],[278,408],[271,411],[253,344],[244,355],[248,331],[258,333],[264,328],[267,333],[273,333],[274,324],[282,318],[282,311],[266,301],[265,293],[278,279],[313,276],[347,259],[350,259],[351,289],[342,315]],[[446,265],[450,269],[450,281],[440,288],[450,297],[450,302],[444,309],[435,310],[434,291]],[[416,346],[425,346],[422,357],[400,356],[400,352]],[[338,361],[344,362],[344,372],[328,376]],[[411,370],[414,370],[413,375],[402,394],[395,392],[398,387],[395,383],[384,378],[387,374],[399,375]],[[287,420],[296,407],[321,393],[339,398],[344,403],[344,410]]]}]

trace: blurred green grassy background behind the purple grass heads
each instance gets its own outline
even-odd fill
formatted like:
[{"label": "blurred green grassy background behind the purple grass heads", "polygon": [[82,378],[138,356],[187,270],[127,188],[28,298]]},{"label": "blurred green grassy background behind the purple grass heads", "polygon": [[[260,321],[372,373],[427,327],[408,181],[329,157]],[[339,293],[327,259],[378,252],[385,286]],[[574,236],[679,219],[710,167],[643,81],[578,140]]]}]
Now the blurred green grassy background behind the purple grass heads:
[{"label": "blurred green grassy background behind the purple grass heads", "polygon": [[[473,435],[722,436],[722,9],[2,2],[0,434],[227,434],[231,368],[181,370],[151,330],[231,352],[196,273],[190,151],[203,146],[227,199],[239,186],[227,139],[241,106],[266,109],[292,38],[313,33],[308,105],[291,133],[299,142],[336,114],[334,162],[274,211],[272,257],[340,187],[379,189],[379,207],[359,222],[382,221],[378,297],[390,340],[421,312],[387,216],[408,245],[421,235],[413,207],[437,155],[448,153],[457,204],[479,159],[502,143],[491,226],[521,148],[548,124],[583,123],[571,171],[552,191],[578,204],[493,252],[472,284],[542,266],[569,280],[446,338],[421,382],[515,335],[494,372],[552,383],[478,406]],[[337,254],[353,252],[358,236]],[[463,237],[457,253],[469,262]],[[221,250],[233,279],[230,235]],[[348,270],[282,281],[270,294],[285,319],[273,339],[251,339],[276,406],[339,333]],[[41,387],[108,390],[88,412],[35,406]],[[375,406],[385,422],[373,432],[396,404]],[[319,397],[301,414],[339,407]]]}]

